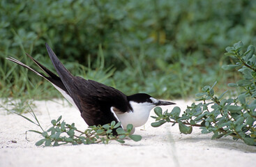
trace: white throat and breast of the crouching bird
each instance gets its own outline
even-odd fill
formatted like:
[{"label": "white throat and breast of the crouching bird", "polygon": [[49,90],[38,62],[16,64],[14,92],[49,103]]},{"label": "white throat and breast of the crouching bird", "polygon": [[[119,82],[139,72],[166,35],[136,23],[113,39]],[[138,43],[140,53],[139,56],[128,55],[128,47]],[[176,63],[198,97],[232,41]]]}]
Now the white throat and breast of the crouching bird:
[{"label": "white throat and breast of the crouching bird", "polygon": [[149,113],[155,105],[144,102],[144,103],[137,103],[130,101],[130,106],[132,106],[133,111],[126,112],[126,113],[116,113],[117,118],[121,122],[123,129],[126,129],[128,124],[132,124],[133,127],[140,127],[146,123],[149,119]]}]

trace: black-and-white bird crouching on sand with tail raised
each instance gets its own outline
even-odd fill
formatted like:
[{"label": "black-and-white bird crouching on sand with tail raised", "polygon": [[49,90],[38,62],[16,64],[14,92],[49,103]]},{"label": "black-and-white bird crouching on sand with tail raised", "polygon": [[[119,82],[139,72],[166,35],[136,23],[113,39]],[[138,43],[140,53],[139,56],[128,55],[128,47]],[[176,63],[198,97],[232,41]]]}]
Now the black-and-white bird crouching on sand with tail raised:
[{"label": "black-and-white bird crouching on sand with tail raised", "polygon": [[38,76],[43,77],[63,95],[63,97],[73,104],[81,113],[87,125],[105,125],[113,120],[121,122],[121,128],[126,130],[128,124],[133,125],[131,134],[135,132],[135,127],[140,127],[149,119],[149,113],[155,106],[167,106],[175,104],[163,100],[157,100],[146,93],[136,93],[125,95],[120,90],[106,86],[97,81],[75,77],[59,61],[54,51],[45,43],[47,53],[50,56],[57,74],[50,71],[27,54],[31,60],[40,67],[45,74],[33,70],[28,65],[9,56],[8,61],[13,61],[22,65]]}]

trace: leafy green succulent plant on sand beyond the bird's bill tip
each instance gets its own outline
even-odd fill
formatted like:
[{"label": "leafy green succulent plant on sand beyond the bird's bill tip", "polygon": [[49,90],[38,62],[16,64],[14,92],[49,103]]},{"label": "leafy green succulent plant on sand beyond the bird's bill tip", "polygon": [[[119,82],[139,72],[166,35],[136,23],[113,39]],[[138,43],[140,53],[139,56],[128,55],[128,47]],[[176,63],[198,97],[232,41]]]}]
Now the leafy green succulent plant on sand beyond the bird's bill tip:
[{"label": "leafy green succulent plant on sand beyond the bird's bill tip", "polygon": [[156,122],[151,125],[159,127],[165,122],[172,125],[179,124],[183,134],[191,134],[193,127],[200,127],[202,134],[213,132],[212,138],[232,136],[234,140],[241,139],[248,145],[256,145],[256,56],[255,47],[250,45],[243,51],[242,42],[226,48],[225,55],[231,56],[235,64],[223,65],[223,69],[237,71],[243,79],[230,83],[229,86],[239,87],[244,90],[237,97],[225,99],[223,96],[214,95],[213,86],[204,86],[202,93],[197,93],[199,104],[193,103],[180,116],[181,109],[174,107],[171,112],[163,113],[161,108],[156,108]]}]

